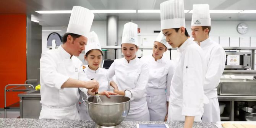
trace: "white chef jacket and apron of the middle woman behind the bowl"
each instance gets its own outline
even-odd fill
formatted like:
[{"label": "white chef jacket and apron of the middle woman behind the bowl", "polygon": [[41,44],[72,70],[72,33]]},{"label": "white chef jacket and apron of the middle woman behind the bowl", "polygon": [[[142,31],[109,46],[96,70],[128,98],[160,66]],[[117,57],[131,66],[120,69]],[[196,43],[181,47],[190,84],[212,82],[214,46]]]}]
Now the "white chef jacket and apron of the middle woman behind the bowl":
[{"label": "white chef jacket and apron of the middle woman behind the bowl", "polygon": [[112,77],[114,75],[116,76],[116,83],[119,90],[128,89],[133,95],[131,97],[128,91],[125,93],[127,97],[131,97],[128,116],[133,115],[130,116],[132,118],[126,118],[129,120],[140,120],[139,118],[141,116],[148,114],[148,119],[144,119],[149,121],[149,112],[146,102],[146,85],[149,78],[148,65],[137,57],[130,60],[130,63],[128,63],[125,58],[120,58],[112,63],[108,75],[110,81],[113,81]]}]

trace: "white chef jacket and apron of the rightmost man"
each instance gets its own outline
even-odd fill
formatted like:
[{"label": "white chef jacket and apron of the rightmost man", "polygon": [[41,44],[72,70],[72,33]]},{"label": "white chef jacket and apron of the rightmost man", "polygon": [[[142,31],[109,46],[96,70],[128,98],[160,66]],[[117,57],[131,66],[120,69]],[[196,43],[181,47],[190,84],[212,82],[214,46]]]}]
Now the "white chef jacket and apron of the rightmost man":
[{"label": "white chef jacket and apron of the rightmost man", "polygon": [[200,42],[206,56],[206,76],[204,79],[204,94],[210,99],[210,103],[204,105],[204,114],[202,121],[217,122],[220,121],[219,102],[217,99],[217,86],[220,77],[225,68],[226,53],[224,49],[212,41],[211,38]]}]

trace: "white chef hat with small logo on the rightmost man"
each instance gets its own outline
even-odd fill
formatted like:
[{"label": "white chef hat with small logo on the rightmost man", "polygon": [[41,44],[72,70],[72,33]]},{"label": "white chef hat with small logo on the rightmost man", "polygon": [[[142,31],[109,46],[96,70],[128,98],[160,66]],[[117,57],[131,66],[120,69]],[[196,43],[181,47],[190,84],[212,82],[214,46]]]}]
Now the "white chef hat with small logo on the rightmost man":
[{"label": "white chef hat with small logo on the rightmost man", "polygon": [[193,5],[191,26],[211,26],[208,4]]}]

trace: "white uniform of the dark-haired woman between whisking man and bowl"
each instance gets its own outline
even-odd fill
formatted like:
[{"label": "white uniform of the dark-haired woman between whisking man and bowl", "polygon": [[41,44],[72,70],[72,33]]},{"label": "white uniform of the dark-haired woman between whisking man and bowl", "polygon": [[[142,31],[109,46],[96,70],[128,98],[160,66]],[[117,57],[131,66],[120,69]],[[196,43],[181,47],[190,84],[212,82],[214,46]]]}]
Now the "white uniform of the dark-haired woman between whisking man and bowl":
[{"label": "white uniform of the dark-haired woman between whisking man and bowl", "polygon": [[[102,91],[109,91],[110,86],[109,86],[109,80],[107,77],[107,70],[104,68],[98,68],[97,70],[91,70],[88,65],[85,66],[84,68],[84,73],[86,74],[87,78],[89,79],[95,79],[96,81],[99,82],[100,87],[99,87],[99,92]],[[88,94],[87,94],[88,95]],[[87,111],[87,103],[83,102],[82,97],[84,97],[84,92],[80,92],[80,99],[79,101],[81,102],[81,106],[79,109],[79,117],[81,120],[90,120],[91,118],[89,117],[89,113]],[[86,97],[84,97],[86,98]]]}]

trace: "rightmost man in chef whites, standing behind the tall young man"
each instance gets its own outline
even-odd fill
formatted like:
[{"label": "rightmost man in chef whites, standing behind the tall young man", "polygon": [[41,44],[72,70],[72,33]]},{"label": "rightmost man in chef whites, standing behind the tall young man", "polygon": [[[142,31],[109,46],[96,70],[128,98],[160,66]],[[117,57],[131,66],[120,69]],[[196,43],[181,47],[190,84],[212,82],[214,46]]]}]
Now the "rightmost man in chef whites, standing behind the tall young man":
[{"label": "rightmost man in chef whites, standing behind the tall young man", "polygon": [[217,86],[225,68],[226,53],[224,49],[209,37],[211,18],[208,4],[193,5],[191,31],[194,41],[203,49],[206,56],[206,76],[204,94],[209,104],[204,105],[203,122],[220,121],[220,108],[217,97]]}]

